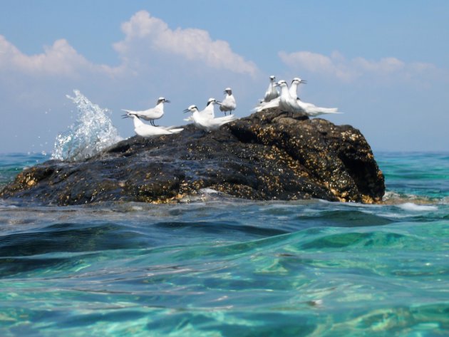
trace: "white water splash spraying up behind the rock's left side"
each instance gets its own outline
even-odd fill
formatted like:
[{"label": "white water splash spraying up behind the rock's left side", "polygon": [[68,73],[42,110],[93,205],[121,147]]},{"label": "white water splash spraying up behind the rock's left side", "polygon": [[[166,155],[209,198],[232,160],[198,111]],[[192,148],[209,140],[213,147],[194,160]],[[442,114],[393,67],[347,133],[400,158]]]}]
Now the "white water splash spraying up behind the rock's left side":
[{"label": "white water splash spraying up behind the rock's left side", "polygon": [[110,110],[93,104],[79,90],[67,95],[78,107],[78,118],[68,130],[56,137],[51,159],[83,160],[122,140],[108,117]]}]

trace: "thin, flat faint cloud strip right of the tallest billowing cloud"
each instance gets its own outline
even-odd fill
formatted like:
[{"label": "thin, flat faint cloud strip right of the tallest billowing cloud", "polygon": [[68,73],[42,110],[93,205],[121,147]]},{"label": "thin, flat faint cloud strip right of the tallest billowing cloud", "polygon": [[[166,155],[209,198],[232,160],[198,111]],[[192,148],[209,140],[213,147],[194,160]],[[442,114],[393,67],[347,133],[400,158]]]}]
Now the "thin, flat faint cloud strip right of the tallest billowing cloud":
[{"label": "thin, flat faint cloud strip right of the tallest billowing cloud", "polygon": [[346,82],[355,81],[366,75],[410,78],[426,71],[436,70],[435,66],[430,63],[406,63],[394,57],[381,58],[378,61],[361,57],[347,60],[338,52],[332,53],[331,56],[325,56],[310,51],[294,53],[280,51],[279,58],[291,68],[333,76]]}]

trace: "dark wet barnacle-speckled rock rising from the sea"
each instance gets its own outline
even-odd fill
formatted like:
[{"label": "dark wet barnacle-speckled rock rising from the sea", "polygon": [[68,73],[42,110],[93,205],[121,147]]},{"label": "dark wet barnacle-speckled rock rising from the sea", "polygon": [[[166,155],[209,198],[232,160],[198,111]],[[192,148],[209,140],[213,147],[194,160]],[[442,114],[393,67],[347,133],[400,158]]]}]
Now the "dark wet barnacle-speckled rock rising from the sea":
[{"label": "dark wet barnacle-speckled rock rising from the sea", "polygon": [[254,113],[204,133],[135,136],[78,162],[50,160],[0,192],[42,204],[169,202],[210,188],[246,199],[380,202],[383,174],[360,131],[321,118]]}]

